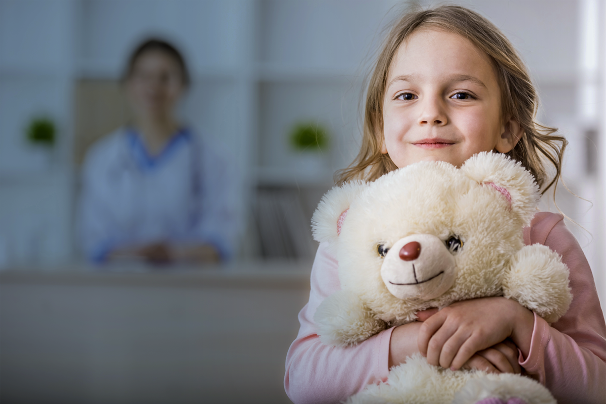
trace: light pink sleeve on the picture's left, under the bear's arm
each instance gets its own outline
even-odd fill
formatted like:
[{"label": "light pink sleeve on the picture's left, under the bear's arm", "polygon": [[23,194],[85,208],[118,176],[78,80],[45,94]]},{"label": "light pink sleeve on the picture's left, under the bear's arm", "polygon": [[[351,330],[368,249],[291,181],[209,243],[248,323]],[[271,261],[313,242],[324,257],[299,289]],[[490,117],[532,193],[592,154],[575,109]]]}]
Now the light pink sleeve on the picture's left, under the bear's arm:
[{"label": "light pink sleeve on the picture's left, under the bear's arm", "polygon": [[299,313],[299,335],[286,356],[284,388],[296,404],[338,403],[368,383],[387,380],[393,328],[347,348],[326,346],[316,335],[316,308],[341,287],[337,266],[327,245],[321,243],[311,268],[309,302]]}]

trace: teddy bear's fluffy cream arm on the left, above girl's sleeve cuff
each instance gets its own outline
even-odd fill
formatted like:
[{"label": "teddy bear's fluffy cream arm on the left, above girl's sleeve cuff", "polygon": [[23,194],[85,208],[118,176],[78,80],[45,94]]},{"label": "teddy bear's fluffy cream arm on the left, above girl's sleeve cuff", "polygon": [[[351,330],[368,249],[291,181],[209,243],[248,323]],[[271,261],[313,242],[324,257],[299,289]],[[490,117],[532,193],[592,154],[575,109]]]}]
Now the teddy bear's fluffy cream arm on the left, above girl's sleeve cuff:
[{"label": "teddy bear's fluffy cream arm on the left, above girl's sleeve cuff", "polygon": [[386,327],[358,294],[342,290],[324,299],[313,319],[320,340],[329,346],[356,345]]}]

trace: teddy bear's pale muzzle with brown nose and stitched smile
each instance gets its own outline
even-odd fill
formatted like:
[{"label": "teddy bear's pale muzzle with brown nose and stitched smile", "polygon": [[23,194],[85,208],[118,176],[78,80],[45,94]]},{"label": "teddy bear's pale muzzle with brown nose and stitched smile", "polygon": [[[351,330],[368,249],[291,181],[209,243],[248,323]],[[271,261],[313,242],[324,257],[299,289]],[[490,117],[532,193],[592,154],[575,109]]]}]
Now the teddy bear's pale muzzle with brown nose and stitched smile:
[{"label": "teddy bear's pale muzzle with brown nose and stitched smile", "polygon": [[432,234],[398,240],[387,252],[381,277],[398,299],[430,300],[454,283],[456,263],[444,241]]}]

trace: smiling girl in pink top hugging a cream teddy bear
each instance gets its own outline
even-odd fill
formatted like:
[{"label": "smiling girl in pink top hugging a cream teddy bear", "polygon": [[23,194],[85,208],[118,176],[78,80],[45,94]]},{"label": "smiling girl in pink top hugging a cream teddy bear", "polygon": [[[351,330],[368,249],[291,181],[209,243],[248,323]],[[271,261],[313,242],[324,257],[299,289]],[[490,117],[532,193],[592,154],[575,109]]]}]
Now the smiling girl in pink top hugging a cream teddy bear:
[{"label": "smiling girl in pink top hugging a cream teddy bear", "polygon": [[[462,7],[405,15],[391,30],[368,87],[362,150],[341,183],[375,180],[418,161],[460,166],[475,153],[505,153],[546,191],[558,180],[565,139],[535,119],[536,91],[498,28]],[[556,168],[548,179],[545,162]],[[284,386],[295,403],[333,403],[421,352],[444,368],[521,373],[544,383],[559,403],[606,397],[606,325],[591,270],[559,214],[541,212],[524,229],[570,268],[570,310],[548,324],[504,297],[457,302],[419,313],[348,348],[323,345],[313,315],[339,290],[338,263],[321,244],[301,329],[288,350]]]}]

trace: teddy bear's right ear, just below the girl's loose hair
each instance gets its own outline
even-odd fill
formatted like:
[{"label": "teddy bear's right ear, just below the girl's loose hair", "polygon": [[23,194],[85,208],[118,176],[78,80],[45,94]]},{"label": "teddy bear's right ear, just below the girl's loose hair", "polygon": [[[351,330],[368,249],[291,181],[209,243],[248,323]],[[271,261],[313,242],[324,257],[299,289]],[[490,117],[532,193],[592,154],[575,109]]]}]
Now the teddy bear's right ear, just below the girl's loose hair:
[{"label": "teddy bear's right ear, just below the girl's loose hair", "polygon": [[505,154],[483,151],[465,161],[461,170],[478,184],[501,193],[522,222],[530,224],[541,194],[534,177],[520,162]]}]

